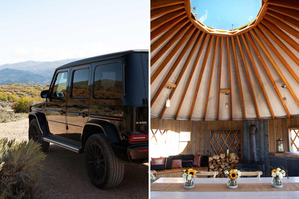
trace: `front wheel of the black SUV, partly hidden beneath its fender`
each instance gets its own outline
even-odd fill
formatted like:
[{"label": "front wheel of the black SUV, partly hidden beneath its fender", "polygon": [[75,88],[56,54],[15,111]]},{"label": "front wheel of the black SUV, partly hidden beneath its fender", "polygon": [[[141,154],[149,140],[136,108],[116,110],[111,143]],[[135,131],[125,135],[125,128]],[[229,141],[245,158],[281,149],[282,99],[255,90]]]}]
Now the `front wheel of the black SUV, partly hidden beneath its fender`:
[{"label": "front wheel of the black SUV, partly hidden beneath its fender", "polygon": [[40,126],[36,119],[32,119],[29,124],[28,139],[40,143],[43,152],[46,152],[49,149],[50,142],[42,140],[42,132],[40,131]]}]

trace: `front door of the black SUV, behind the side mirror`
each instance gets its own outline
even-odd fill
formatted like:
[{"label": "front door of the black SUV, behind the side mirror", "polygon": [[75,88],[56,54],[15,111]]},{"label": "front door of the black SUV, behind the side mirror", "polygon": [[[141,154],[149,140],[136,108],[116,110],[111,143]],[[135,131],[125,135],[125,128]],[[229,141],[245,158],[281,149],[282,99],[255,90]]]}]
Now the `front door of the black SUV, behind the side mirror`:
[{"label": "front door of the black SUV, behind the side mirror", "polygon": [[66,134],[66,96],[69,68],[58,70],[51,85],[47,101],[47,122],[51,134],[67,137]]}]

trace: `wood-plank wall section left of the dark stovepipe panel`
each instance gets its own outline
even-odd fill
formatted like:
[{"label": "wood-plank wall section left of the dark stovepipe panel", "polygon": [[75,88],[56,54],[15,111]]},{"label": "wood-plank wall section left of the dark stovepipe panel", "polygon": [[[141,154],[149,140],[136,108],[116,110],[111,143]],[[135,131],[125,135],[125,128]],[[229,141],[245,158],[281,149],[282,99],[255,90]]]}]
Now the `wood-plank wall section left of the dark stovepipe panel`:
[{"label": "wood-plank wall section left of the dark stovepipe panel", "polygon": [[[162,149],[161,145],[156,146],[159,147],[157,151],[165,150],[165,153],[163,155],[156,154],[155,156],[178,154],[206,155],[207,150],[210,152],[210,134],[208,129],[242,129],[242,125],[242,121],[189,121],[152,118],[151,129],[171,130],[166,132],[165,140],[163,140],[163,142],[165,141],[165,149]],[[180,131],[190,131],[191,141],[179,142]],[[150,132],[150,143],[154,139],[152,136]]]}]

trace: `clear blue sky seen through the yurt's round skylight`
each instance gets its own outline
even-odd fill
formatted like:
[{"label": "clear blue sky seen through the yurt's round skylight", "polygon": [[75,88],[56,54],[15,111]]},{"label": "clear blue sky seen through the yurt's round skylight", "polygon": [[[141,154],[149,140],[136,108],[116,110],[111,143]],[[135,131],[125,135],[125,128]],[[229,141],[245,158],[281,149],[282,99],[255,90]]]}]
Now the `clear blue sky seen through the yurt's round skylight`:
[{"label": "clear blue sky seen through the yurt's round skylight", "polygon": [[241,27],[254,20],[261,8],[262,0],[191,0],[197,9],[197,19],[205,25],[223,30]]}]

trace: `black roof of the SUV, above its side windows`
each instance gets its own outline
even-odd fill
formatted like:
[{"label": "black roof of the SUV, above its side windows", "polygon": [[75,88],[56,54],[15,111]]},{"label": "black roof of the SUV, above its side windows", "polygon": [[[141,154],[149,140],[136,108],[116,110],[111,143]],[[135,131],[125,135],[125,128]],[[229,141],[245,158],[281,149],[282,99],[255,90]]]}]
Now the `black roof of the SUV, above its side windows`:
[{"label": "black roof of the SUV, above its side windows", "polygon": [[92,62],[99,62],[99,61],[103,61],[103,60],[107,60],[107,59],[120,58],[120,57],[123,57],[130,53],[149,53],[149,50],[126,50],[126,51],[121,51],[121,52],[117,52],[117,53],[99,55],[96,57],[90,57],[90,58],[80,59],[80,60],[77,60],[74,62],[69,62],[67,64],[64,64],[64,65],[58,67],[57,69],[71,67],[71,66],[77,66],[77,65],[82,65],[82,64],[92,63]]}]

